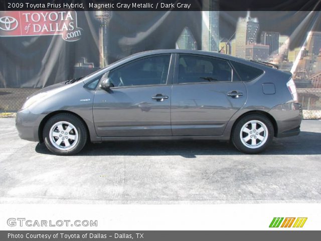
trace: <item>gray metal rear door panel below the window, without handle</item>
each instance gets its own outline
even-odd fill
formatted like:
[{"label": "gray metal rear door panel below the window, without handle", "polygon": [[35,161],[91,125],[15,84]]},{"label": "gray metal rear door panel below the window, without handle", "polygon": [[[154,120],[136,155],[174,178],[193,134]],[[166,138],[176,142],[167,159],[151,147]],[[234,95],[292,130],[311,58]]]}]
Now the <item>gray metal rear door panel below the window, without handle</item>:
[{"label": "gray metal rear door panel below the window, without handle", "polygon": [[[243,95],[228,96],[230,91]],[[234,113],[246,102],[243,82],[212,82],[173,85],[173,136],[220,136]]]}]

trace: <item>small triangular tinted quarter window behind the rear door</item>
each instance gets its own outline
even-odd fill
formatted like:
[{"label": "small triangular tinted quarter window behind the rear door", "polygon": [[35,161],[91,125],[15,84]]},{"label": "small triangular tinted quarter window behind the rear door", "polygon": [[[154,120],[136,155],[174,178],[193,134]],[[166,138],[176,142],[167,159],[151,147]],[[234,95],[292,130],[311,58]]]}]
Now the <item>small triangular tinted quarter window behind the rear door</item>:
[{"label": "small triangular tinted quarter window behind the rear door", "polygon": [[255,79],[256,77],[260,76],[263,74],[263,70],[251,67],[246,64],[241,64],[238,62],[231,61],[234,69],[240,76],[240,78],[234,78],[233,76],[233,81],[250,81],[252,79]]}]

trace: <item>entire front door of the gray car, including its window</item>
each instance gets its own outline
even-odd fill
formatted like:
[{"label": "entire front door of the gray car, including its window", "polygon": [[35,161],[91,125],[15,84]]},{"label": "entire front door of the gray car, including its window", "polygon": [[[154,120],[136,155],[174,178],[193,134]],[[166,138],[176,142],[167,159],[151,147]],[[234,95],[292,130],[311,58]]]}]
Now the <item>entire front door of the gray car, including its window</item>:
[{"label": "entire front door of the gray car, including its window", "polygon": [[170,60],[155,55],[109,72],[114,87],[98,89],[93,103],[99,137],[172,136]]}]

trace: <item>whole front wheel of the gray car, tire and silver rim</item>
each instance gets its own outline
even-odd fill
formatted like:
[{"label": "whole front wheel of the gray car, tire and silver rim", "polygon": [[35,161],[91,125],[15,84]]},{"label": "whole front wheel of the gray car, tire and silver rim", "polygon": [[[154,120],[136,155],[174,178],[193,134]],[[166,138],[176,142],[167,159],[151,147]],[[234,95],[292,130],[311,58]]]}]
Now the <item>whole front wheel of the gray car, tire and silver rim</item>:
[{"label": "whole front wheel of the gray car, tire and silver rim", "polygon": [[83,121],[69,113],[52,116],[44,126],[43,138],[46,147],[56,155],[74,155],[87,142],[87,130]]}]

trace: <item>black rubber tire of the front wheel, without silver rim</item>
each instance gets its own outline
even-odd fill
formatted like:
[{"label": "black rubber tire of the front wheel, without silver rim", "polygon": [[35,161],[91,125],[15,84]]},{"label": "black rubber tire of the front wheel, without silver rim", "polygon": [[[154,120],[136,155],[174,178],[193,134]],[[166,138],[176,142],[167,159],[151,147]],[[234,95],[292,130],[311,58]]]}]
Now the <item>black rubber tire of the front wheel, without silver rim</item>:
[{"label": "black rubber tire of the front wheel, without silver rim", "polygon": [[[77,132],[78,132],[77,144],[72,149],[66,150],[66,151],[59,150],[55,146],[53,146],[49,136],[51,127],[58,122],[64,122],[64,121],[74,125],[74,127],[77,129]],[[87,141],[87,131],[84,123],[77,116],[69,113],[61,113],[61,114],[54,115],[50,119],[48,119],[47,123],[44,126],[43,139],[46,147],[52,153],[56,155],[74,155],[80,152],[85,146]]]}]

